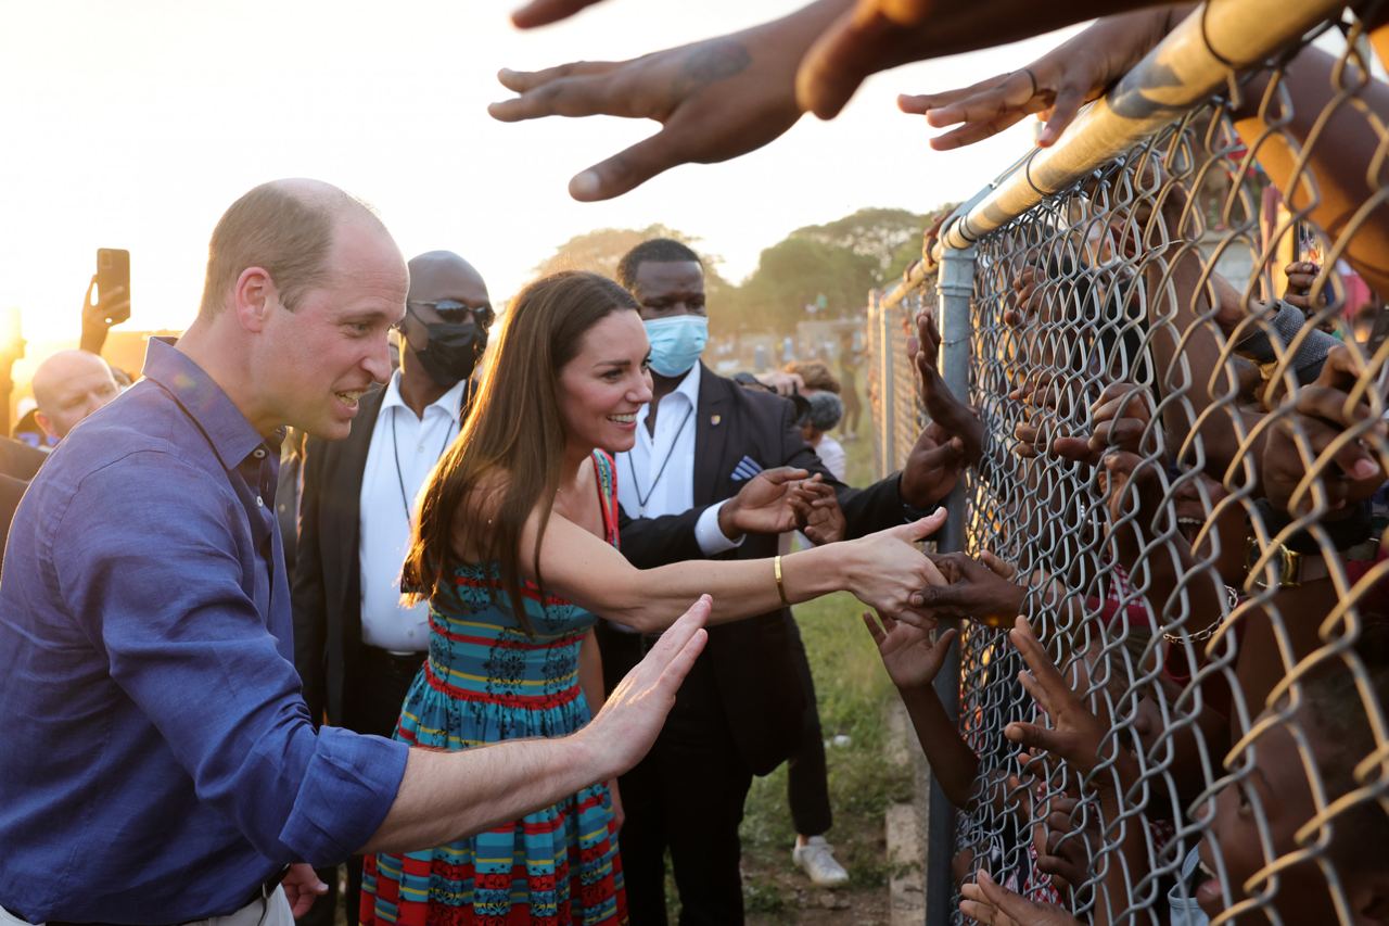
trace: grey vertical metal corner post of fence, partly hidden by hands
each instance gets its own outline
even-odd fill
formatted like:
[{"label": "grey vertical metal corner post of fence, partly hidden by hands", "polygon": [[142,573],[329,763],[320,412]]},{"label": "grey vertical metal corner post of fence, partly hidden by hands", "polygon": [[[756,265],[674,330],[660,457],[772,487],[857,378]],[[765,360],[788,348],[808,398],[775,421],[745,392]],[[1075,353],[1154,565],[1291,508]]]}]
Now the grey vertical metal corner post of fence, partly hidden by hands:
[{"label": "grey vertical metal corner post of fence, partly hidden by hands", "polygon": [[[936,277],[936,323],[940,328],[940,377],[961,399],[970,395],[970,303],[974,298],[974,247],[946,249]],[[938,548],[956,552],[964,544],[964,484],[957,484],[946,502],[949,516]],[[954,647],[936,676],[936,694],[946,713],[958,723],[960,648]],[[932,776],[931,809],[926,820],[926,923],[946,926],[954,912],[950,902],[954,883],[950,859],[954,855],[954,806]]]}]

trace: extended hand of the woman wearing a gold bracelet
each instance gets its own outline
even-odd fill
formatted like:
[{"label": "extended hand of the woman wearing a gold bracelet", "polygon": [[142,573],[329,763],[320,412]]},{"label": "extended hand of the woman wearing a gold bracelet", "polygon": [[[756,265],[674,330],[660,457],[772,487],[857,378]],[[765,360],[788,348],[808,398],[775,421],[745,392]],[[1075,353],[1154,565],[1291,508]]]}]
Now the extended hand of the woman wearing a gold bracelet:
[{"label": "extended hand of the woman wearing a gold bracelet", "polygon": [[836,546],[836,551],[842,551],[846,591],[896,620],[906,620],[918,627],[935,626],[929,615],[918,610],[921,590],[939,585],[945,580],[915,544],[940,530],[945,521],[946,509],[938,507],[929,517],[911,524],[868,534]]}]

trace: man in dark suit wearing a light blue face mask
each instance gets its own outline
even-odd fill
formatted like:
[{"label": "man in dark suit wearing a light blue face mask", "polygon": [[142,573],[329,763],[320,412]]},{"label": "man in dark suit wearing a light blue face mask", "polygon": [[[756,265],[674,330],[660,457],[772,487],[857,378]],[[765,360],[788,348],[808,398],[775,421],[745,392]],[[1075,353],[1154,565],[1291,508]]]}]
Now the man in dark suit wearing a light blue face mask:
[{"label": "man in dark suit wearing a light blue face mask", "polygon": [[[821,474],[835,488],[847,535],[857,537],[933,506],[976,453],[942,441],[939,431],[922,434],[901,473],[864,489],[843,485],[806,445],[790,402],[699,363],[707,316],[703,267],[692,250],[668,239],[643,242],[624,257],[619,277],[642,306],[654,381],[638,445],[618,460],[622,552],[636,566],[692,555],[774,556],[775,535],[720,544],[711,531],[696,530],[692,548],[669,530],[671,521],[722,520],[724,499],[765,469]],[[608,679],[619,679],[650,645],[613,626],[599,640]],[[807,697],[797,662],[804,663],[804,649],[786,609],[710,628],[656,747],[619,783],[622,870],[636,926],[665,922],[667,848],[682,925],[742,922],[738,826],[751,776],[767,774],[797,745]]]}]

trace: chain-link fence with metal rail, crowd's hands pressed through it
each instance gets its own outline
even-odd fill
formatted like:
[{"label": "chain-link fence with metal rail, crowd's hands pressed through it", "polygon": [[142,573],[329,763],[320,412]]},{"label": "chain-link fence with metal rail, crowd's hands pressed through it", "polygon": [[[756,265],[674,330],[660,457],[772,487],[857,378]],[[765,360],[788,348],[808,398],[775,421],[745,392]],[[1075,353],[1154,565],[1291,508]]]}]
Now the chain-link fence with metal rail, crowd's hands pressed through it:
[{"label": "chain-link fence with metal rail, crowd's hands pressed through it", "polygon": [[[967,749],[924,748],[972,787],[932,806],[933,922],[981,870],[1018,922],[1389,922],[1389,86],[1349,11],[1313,43],[1279,6],[1195,13],[870,306],[882,469],[921,307],[985,425],[942,560]],[[1174,74],[1192,103],[1126,124]],[[950,256],[972,298],[936,309]]]}]

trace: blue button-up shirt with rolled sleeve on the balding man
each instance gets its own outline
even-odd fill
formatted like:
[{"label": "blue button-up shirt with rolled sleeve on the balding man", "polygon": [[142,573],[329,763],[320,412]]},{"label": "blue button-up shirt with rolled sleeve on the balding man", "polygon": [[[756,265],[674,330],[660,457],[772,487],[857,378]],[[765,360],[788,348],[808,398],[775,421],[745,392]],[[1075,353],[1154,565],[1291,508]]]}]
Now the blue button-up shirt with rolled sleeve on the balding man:
[{"label": "blue button-up shirt with rolled sleeve on the balding man", "polygon": [[314,730],[275,523],[279,452],[186,355],[85,420],[15,513],[0,580],[0,907],[225,915],[365,844],[407,747]]}]

